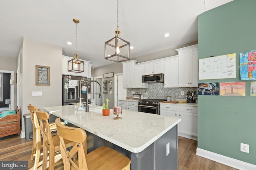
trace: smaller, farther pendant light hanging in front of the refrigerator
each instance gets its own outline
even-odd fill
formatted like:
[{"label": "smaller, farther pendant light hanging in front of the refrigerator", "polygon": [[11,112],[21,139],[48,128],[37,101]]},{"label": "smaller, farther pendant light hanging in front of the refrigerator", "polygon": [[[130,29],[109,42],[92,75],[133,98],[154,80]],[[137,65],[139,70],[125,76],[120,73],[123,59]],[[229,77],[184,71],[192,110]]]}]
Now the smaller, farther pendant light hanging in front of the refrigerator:
[{"label": "smaller, farther pendant light hanging in front of the refrigerator", "polygon": [[[76,32],[77,32],[77,24],[80,21],[78,19],[73,19],[73,21],[74,21],[74,23],[76,23]],[[78,54],[75,53],[74,58],[68,61],[68,71],[84,72],[84,61],[80,61],[78,59]]]}]

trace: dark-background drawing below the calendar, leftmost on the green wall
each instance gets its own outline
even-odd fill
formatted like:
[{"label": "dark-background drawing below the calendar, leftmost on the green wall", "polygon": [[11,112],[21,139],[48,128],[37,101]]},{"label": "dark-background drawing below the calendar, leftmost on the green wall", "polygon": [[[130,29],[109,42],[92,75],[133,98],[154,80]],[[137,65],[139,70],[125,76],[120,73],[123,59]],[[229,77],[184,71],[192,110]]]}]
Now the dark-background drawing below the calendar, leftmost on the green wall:
[{"label": "dark-background drawing below the calendar, leftmost on the green wall", "polygon": [[198,95],[219,95],[219,83],[198,83]]}]

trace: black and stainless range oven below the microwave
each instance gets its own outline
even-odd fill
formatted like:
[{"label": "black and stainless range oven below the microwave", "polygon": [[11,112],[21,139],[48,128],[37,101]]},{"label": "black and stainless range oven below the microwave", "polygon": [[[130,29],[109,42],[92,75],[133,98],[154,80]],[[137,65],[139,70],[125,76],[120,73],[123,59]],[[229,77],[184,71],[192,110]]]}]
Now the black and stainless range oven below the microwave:
[{"label": "black and stainless range oven below the microwave", "polygon": [[164,99],[142,99],[138,101],[138,111],[145,113],[152,113],[159,115],[160,102],[166,101]]}]

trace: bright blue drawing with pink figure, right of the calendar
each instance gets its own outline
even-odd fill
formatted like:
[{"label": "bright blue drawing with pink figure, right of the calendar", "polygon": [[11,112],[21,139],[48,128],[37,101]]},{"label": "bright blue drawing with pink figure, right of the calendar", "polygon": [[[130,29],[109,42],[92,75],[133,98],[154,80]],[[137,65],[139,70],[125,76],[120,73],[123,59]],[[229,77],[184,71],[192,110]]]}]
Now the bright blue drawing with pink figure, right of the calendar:
[{"label": "bright blue drawing with pink figure, right of the calendar", "polygon": [[241,80],[256,80],[256,51],[240,53]]}]

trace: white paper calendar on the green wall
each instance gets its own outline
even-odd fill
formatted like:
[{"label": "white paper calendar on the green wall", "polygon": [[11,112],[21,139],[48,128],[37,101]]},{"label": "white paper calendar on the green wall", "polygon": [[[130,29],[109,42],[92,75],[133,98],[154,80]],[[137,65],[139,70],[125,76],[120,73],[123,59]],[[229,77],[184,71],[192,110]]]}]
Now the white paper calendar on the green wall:
[{"label": "white paper calendar on the green wall", "polygon": [[236,78],[236,53],[199,59],[198,79]]}]

